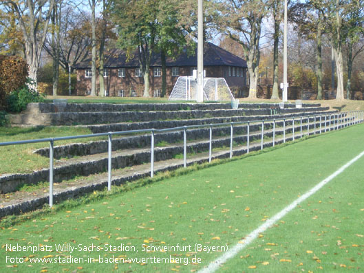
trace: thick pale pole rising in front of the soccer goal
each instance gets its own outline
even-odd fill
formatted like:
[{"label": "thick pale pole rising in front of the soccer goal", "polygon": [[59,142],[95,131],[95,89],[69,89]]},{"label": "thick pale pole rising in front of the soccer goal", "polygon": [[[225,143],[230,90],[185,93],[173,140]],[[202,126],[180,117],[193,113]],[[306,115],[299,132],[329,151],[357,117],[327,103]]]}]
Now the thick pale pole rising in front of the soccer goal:
[{"label": "thick pale pole rising in front of the soccer goal", "polygon": [[197,102],[204,101],[204,8],[198,0],[197,15]]}]

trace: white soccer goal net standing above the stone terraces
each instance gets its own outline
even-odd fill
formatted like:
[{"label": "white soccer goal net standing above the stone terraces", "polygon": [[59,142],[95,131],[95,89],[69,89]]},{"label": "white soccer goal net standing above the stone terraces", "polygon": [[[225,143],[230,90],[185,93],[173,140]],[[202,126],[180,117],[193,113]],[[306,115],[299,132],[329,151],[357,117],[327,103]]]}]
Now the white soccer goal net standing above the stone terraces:
[{"label": "white soccer goal net standing above the stone terraces", "polygon": [[[178,77],[169,100],[197,100],[197,80]],[[224,78],[204,78],[204,100],[235,100]]]}]

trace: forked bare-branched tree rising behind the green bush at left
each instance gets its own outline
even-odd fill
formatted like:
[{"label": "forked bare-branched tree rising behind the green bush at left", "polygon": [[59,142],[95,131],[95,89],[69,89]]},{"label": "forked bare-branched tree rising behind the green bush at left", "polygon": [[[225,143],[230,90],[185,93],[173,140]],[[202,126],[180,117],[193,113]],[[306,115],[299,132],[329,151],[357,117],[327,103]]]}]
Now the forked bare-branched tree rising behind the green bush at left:
[{"label": "forked bare-branched tree rising behind the green bush at left", "polygon": [[34,80],[39,68],[41,51],[47,34],[54,0],[3,1],[7,12],[17,15],[17,21],[23,33],[25,58],[29,66],[29,77]]}]

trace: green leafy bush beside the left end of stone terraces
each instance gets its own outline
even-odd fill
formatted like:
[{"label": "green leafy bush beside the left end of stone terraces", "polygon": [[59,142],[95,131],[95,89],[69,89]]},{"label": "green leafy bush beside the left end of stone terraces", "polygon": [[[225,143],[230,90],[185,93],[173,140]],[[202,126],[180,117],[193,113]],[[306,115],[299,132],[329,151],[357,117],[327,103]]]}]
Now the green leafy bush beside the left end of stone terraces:
[{"label": "green leafy bush beside the left end of stone terraces", "polygon": [[[27,84],[31,84],[32,80],[28,78]],[[29,89],[28,85],[23,85],[21,89],[13,91],[6,98],[6,110],[11,113],[19,113],[27,108],[29,102],[43,102],[43,95],[33,89]]]}]

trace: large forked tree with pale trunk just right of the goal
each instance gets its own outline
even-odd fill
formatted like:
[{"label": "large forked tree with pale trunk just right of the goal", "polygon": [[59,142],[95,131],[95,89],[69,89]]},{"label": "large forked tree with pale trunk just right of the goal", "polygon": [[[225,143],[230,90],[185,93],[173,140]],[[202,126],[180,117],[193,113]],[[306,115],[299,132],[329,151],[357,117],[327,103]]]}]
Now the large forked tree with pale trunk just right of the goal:
[{"label": "large forked tree with pale trunk just right of the goal", "polygon": [[246,58],[250,78],[249,98],[257,98],[261,22],[267,13],[268,1],[265,0],[229,0],[224,10],[224,30],[242,45]]}]

